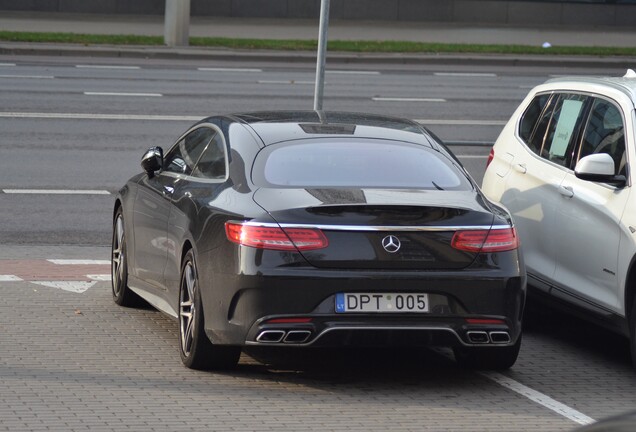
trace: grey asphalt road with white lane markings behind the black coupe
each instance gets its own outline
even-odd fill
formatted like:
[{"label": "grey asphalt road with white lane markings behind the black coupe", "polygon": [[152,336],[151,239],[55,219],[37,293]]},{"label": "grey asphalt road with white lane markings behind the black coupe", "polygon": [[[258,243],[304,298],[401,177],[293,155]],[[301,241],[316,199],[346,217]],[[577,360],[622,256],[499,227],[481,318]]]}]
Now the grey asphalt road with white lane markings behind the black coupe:
[{"label": "grey asphalt road with white lane markings behind the black coupe", "polygon": [[[113,193],[139,171],[146,148],[169,147],[195,119],[313,106],[311,64],[51,57],[0,64],[3,190]],[[324,108],[416,119],[451,144],[492,143],[528,88],[545,78],[434,66],[328,68]],[[488,149],[453,148],[480,182]],[[2,199],[4,242],[110,242],[112,196],[16,193]]]}]

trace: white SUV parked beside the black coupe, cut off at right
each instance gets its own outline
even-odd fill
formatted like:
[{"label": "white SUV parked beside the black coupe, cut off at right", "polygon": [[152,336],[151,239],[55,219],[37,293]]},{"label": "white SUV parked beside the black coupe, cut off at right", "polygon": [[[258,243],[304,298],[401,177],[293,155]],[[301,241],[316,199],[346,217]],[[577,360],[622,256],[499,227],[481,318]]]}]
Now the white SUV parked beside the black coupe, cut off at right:
[{"label": "white SUV parked beside the black coupe, cut off at right", "polygon": [[636,367],[636,73],[535,87],[495,143],[483,192],[513,215],[528,285],[630,338]]}]

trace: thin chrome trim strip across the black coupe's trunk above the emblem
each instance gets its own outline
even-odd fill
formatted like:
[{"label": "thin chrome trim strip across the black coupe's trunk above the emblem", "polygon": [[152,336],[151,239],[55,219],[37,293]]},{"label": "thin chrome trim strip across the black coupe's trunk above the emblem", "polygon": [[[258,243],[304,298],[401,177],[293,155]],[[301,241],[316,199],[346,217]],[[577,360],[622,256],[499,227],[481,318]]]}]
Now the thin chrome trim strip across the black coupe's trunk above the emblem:
[{"label": "thin chrome trim strip across the black coupe's trunk above the emblem", "polygon": [[438,232],[438,231],[466,231],[466,230],[504,230],[512,228],[511,225],[456,225],[456,226],[365,226],[365,225],[321,225],[321,224],[276,224],[268,222],[244,222],[228,221],[229,223],[243,224],[263,228],[308,228],[323,231],[366,231],[366,232]]}]

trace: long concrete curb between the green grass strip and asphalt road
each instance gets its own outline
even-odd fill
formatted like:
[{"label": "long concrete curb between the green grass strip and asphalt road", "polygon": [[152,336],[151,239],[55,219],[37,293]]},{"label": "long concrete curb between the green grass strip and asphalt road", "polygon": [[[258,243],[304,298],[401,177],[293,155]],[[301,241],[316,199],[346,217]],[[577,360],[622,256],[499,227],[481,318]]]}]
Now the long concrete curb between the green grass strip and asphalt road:
[{"label": "long concrete curb between the green grass strip and asphalt road", "polygon": [[[316,54],[309,51],[233,50],[220,48],[168,48],[145,46],[98,46],[75,44],[0,43],[2,55],[60,57],[144,58],[172,60],[216,60],[235,62],[312,63]],[[578,57],[504,54],[399,54],[328,53],[332,64],[387,65],[475,65],[509,67],[617,68],[636,67],[636,57]]]}]

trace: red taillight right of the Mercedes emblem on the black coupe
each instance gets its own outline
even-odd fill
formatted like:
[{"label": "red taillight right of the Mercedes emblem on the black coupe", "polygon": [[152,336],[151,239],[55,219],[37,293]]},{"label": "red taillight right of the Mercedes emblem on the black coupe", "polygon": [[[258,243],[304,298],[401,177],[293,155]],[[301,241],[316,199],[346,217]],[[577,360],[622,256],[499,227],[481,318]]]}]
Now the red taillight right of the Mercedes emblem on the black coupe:
[{"label": "red taillight right of the Mercedes emblem on the black coupe", "polygon": [[451,245],[468,252],[503,252],[519,247],[514,228],[457,231]]}]

